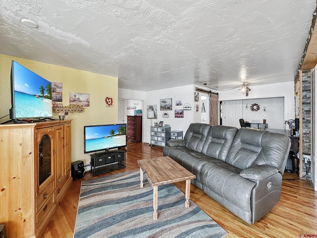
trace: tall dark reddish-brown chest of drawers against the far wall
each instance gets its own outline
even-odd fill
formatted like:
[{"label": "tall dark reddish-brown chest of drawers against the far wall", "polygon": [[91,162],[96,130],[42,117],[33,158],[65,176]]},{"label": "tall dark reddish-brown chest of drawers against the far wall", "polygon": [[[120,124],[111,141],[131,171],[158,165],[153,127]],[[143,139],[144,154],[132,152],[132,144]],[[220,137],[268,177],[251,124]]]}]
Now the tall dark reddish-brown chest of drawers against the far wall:
[{"label": "tall dark reddish-brown chest of drawers against the far wall", "polygon": [[133,142],[142,141],[142,117],[127,116],[127,140]]}]

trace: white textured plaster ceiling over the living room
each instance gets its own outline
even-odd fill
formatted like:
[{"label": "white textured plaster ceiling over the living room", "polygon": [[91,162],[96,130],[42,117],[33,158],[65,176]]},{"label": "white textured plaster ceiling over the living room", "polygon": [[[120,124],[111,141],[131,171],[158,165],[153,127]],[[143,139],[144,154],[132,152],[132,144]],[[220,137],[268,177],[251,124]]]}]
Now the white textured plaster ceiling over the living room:
[{"label": "white textured plaster ceiling over the living room", "polygon": [[315,7],[316,0],[0,0],[0,54],[115,76],[119,88],[140,91],[293,81]]}]

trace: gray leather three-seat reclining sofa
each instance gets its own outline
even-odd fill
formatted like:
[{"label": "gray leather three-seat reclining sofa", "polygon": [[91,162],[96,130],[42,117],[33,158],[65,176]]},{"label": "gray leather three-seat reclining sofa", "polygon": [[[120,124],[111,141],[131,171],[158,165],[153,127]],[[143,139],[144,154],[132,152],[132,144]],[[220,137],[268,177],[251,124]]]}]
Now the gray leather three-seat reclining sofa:
[{"label": "gray leather three-seat reclining sofa", "polygon": [[286,135],[192,123],[184,139],[169,140],[167,145],[163,156],[195,174],[192,183],[248,224],[280,199],[291,145]]}]

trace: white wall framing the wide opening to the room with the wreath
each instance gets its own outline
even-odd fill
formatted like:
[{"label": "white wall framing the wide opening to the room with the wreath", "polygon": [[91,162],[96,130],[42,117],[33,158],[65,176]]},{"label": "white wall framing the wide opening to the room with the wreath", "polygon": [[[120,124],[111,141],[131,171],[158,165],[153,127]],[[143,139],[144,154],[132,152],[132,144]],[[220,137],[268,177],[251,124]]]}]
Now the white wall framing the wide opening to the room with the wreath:
[{"label": "white wall framing the wide opening to the room with the wreath", "polygon": [[266,84],[261,86],[252,86],[252,84],[250,84],[249,87],[251,88],[251,91],[249,92],[248,97],[242,94],[238,89],[219,91],[219,101],[284,97],[284,119],[295,119],[293,81]]}]

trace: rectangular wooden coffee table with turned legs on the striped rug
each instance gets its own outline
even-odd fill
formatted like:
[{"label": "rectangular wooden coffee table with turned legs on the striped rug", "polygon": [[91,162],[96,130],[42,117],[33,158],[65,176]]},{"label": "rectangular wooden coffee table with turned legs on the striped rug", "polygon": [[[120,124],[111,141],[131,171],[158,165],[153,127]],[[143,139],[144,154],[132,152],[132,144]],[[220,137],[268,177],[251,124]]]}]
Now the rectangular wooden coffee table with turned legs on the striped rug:
[{"label": "rectangular wooden coffee table with turned legs on the striped rug", "polygon": [[143,187],[143,173],[153,187],[153,218],[158,219],[158,186],[186,180],[185,207],[189,208],[190,179],[196,176],[168,156],[138,160],[140,166],[140,186]]}]

